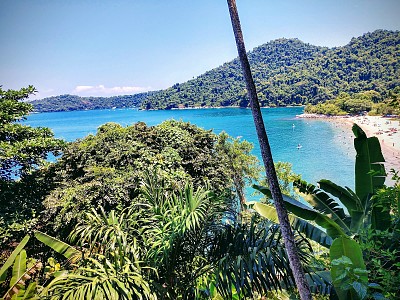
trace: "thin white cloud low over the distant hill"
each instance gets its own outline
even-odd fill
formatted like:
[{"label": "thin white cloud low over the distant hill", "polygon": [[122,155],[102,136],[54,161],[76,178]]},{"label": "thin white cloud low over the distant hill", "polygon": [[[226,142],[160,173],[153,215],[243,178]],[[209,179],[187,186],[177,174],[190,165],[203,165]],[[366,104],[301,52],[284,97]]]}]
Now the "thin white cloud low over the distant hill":
[{"label": "thin white cloud low over the distant hill", "polygon": [[118,96],[118,95],[130,95],[150,90],[150,87],[140,86],[115,86],[105,87],[104,85],[78,85],[72,91],[73,94],[79,96]]}]

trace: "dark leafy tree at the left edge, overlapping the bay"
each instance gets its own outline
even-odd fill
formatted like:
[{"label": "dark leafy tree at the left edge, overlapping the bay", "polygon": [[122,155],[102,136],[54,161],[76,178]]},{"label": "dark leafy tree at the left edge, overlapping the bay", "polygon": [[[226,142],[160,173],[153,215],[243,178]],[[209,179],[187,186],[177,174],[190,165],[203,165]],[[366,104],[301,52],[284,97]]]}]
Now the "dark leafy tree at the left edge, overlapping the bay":
[{"label": "dark leafy tree at the left edge, overlapping the bay", "polygon": [[[35,93],[29,86],[20,90],[0,88],[0,251],[21,240],[36,222],[42,204],[38,194],[47,178],[35,174],[57,156],[65,143],[48,128],[33,128],[22,121],[33,109],[25,100]],[[0,256],[1,257],[1,256]]]}]

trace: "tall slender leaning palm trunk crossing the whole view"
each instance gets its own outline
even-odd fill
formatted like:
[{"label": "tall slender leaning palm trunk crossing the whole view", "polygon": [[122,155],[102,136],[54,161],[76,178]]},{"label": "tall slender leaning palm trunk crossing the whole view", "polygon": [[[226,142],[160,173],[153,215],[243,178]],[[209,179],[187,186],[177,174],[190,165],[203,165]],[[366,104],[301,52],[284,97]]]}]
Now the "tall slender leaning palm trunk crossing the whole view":
[{"label": "tall slender leaning palm trunk crossing the whole view", "polygon": [[250,107],[253,114],[255,127],[257,130],[258,142],[260,143],[261,156],[264,161],[266,175],[271,190],[272,198],[275,202],[276,211],[285,242],[285,248],[288,254],[290,267],[292,269],[295,282],[300,293],[301,299],[311,299],[310,289],[308,287],[304,270],[301,266],[299,256],[297,255],[296,244],[294,241],[293,231],[290,227],[287,210],[283,203],[282,193],[279,187],[278,178],[272,159],[271,148],[269,146],[267,133],[264,127],[264,121],[261,114],[260,104],[258,102],[256,87],[250,71],[250,64],[247,59],[246,48],[244,45],[242,29],[240,26],[239,15],[236,8],[235,0],[227,0],[233,32],[235,34],[236,46],[239,53],[239,59],[242,64],[243,75],[246,81],[247,93],[250,98]]}]

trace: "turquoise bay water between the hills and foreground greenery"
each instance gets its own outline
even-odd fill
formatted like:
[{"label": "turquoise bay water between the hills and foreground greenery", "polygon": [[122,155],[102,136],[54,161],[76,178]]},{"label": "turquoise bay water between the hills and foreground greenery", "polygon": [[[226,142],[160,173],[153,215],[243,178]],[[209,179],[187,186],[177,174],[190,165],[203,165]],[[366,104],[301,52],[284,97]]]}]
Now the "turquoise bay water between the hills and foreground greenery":
[{"label": "turquoise bay water between the hills and foreground greenery", "polygon": [[[349,136],[340,127],[322,120],[296,119],[302,107],[264,108],[263,117],[274,161],[287,161],[296,173],[311,183],[330,179],[337,184],[354,186],[354,150]],[[213,108],[168,111],[134,109],[92,110],[32,114],[26,123],[49,127],[58,138],[73,141],[95,134],[107,122],[130,125],[143,121],[156,125],[168,119],[183,120],[220,133],[252,142],[253,153],[260,157],[256,131],[249,109]],[[350,130],[349,130],[350,131]],[[297,146],[301,145],[298,149]]]}]

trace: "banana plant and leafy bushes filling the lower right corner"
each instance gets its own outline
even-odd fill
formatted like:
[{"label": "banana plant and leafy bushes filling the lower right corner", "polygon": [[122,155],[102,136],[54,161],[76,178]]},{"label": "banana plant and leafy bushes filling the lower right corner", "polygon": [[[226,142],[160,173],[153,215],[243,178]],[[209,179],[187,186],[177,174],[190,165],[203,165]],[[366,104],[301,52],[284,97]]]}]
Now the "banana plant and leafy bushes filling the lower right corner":
[{"label": "banana plant and leafy bushes filling the lower right corner", "polygon": [[[382,293],[377,292],[379,290],[393,296],[393,291],[398,292],[398,276],[394,275],[394,270],[397,270],[400,258],[399,252],[393,248],[400,242],[398,184],[391,188],[384,186],[384,158],[378,139],[367,138],[357,125],[353,125],[353,132],[357,152],[355,192],[329,180],[320,180],[318,188],[298,180],[295,186],[312,207],[290,197],[286,197],[285,202],[288,210],[303,222],[315,222],[334,239],[331,245],[324,245],[322,242],[325,239],[320,233],[313,232],[312,235],[311,231],[305,232],[309,238],[330,247],[331,276],[340,299],[365,299],[368,295],[383,297]],[[270,197],[268,188],[255,188]],[[264,217],[276,222],[276,212],[271,205],[257,203],[253,207]],[[292,220],[297,221],[297,218],[292,217]],[[296,222],[293,226],[298,229]],[[383,243],[384,238],[389,238],[387,243]],[[373,258],[371,253],[378,247],[382,251],[382,255],[378,256],[381,258]],[[385,262],[384,267],[382,262]],[[368,270],[373,272],[369,278],[372,283],[368,282]],[[388,274],[394,275],[390,283],[383,279]]]}]

